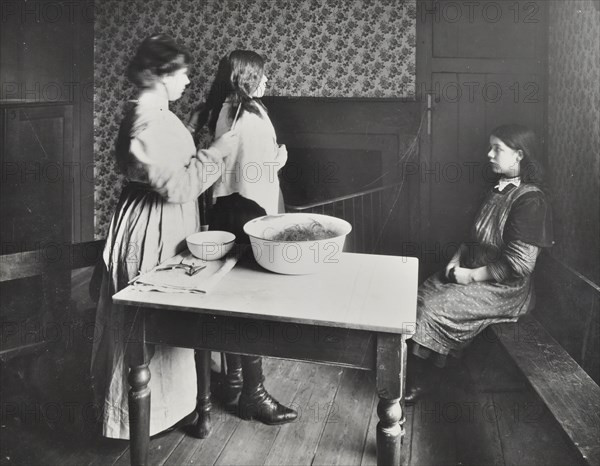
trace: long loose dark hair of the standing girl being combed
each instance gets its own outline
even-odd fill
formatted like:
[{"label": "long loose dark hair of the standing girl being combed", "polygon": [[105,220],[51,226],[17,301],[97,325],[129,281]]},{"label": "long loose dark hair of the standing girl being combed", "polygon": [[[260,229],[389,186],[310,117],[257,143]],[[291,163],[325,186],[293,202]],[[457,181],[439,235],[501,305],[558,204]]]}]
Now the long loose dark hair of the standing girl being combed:
[{"label": "long loose dark hair of the standing girl being combed", "polygon": [[235,118],[238,107],[238,117],[244,112],[261,116],[260,108],[266,109],[260,99],[252,97],[252,93],[260,84],[264,66],[263,57],[251,50],[234,50],[221,58],[206,103],[198,108],[196,134],[207,123],[210,133],[215,134],[219,113],[226,99],[231,103],[228,115],[231,120]]}]

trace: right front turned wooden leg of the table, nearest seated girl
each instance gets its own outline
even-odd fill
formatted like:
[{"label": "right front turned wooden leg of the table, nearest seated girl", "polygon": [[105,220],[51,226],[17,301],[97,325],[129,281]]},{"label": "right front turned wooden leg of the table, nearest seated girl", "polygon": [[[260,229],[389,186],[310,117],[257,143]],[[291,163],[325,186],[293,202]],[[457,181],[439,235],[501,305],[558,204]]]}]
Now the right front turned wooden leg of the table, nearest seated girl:
[{"label": "right front turned wooden leg of the table, nearest seated girl", "polygon": [[399,466],[404,436],[402,394],[406,374],[406,338],[377,335],[377,464]]}]

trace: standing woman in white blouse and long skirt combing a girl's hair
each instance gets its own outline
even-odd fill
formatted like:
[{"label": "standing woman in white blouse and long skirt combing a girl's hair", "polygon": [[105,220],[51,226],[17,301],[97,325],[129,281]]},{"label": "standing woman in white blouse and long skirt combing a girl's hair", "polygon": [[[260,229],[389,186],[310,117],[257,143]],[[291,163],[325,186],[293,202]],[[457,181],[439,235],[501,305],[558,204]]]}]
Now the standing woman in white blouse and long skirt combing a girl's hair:
[{"label": "standing woman in white blouse and long skirt combing a girl's hair", "polygon": [[[128,366],[123,308],[111,296],[139,273],[185,248],[200,230],[197,197],[220,176],[235,146],[226,135],[196,152],[190,132],[169,110],[189,79],[188,52],[165,35],[144,40],[127,70],[138,87],[121,123],[116,157],[126,184],[104,249],[104,270],[92,349],[92,383],[103,410],[103,435],[129,438]],[[150,435],[193,417],[196,371],[191,349],[156,346],[150,362]]]}]

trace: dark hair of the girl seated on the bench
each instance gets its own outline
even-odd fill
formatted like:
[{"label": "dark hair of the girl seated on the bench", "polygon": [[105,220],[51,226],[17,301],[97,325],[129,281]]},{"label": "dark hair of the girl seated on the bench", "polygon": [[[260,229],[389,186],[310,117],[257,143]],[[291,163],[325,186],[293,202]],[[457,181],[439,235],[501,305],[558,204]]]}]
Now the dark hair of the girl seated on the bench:
[{"label": "dark hair of the girl seated on the bench", "polygon": [[544,170],[538,158],[539,145],[535,133],[527,126],[510,124],[494,128],[492,136],[500,139],[512,150],[520,150],[523,158],[520,162],[520,177],[523,183],[544,184]]}]

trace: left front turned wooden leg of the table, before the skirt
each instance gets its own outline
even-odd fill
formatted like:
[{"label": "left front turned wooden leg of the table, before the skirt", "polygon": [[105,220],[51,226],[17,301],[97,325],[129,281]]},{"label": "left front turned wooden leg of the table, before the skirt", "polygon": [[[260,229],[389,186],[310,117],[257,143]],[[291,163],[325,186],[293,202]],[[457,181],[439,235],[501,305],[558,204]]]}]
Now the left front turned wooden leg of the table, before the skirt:
[{"label": "left front turned wooden leg of the table, before the skirt", "polygon": [[150,444],[150,359],[153,347],[145,344],[145,316],[135,308],[128,308],[128,318],[133,318],[127,337],[129,360],[129,455],[134,466],[148,463]]}]

